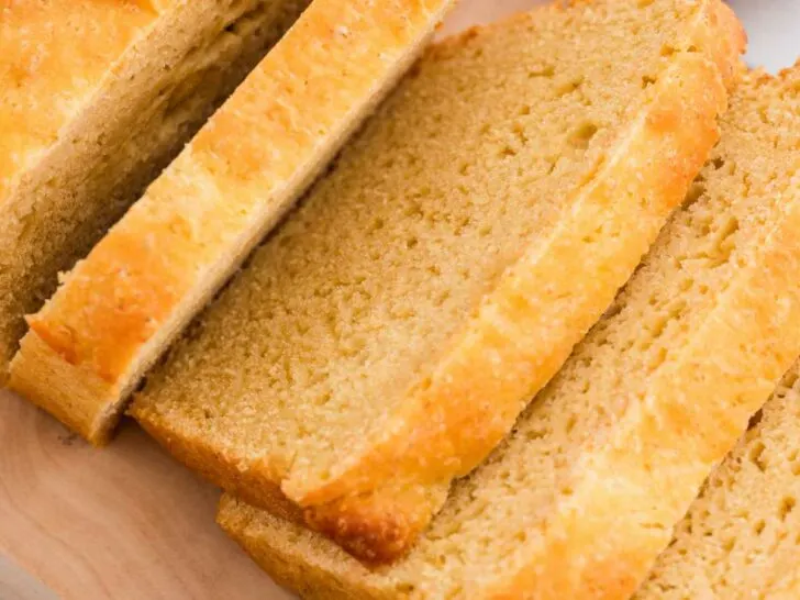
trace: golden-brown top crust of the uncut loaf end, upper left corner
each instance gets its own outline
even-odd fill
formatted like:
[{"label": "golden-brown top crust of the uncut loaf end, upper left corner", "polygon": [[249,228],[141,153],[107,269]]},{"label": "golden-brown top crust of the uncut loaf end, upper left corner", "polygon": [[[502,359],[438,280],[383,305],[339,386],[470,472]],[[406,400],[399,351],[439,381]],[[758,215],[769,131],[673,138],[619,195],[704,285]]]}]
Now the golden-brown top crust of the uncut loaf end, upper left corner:
[{"label": "golden-brown top crust of the uncut loaf end, upper left corner", "polygon": [[16,0],[3,2],[0,13],[2,207],[20,175],[74,115],[76,104],[157,13],[126,0]]}]

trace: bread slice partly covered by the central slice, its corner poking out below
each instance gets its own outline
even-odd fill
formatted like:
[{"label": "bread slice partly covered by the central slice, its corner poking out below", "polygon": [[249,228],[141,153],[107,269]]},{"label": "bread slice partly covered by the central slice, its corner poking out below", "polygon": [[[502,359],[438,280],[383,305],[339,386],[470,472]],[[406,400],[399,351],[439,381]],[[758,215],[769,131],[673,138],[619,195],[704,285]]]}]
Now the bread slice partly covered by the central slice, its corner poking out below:
[{"label": "bread slice partly covered by the central slice, its corner poking out below", "polygon": [[740,86],[688,204],[404,558],[370,571],[231,498],[221,524],[307,598],[627,599],[800,354],[799,81]]}]

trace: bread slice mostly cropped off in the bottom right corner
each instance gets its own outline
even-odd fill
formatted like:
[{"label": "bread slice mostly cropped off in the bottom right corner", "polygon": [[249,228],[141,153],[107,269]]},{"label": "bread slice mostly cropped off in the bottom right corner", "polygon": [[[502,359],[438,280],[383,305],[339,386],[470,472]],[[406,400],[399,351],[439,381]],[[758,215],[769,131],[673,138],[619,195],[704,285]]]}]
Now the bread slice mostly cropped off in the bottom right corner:
[{"label": "bread slice mostly cropped off in the bottom right corner", "polygon": [[634,600],[800,597],[800,364],[754,421]]}]

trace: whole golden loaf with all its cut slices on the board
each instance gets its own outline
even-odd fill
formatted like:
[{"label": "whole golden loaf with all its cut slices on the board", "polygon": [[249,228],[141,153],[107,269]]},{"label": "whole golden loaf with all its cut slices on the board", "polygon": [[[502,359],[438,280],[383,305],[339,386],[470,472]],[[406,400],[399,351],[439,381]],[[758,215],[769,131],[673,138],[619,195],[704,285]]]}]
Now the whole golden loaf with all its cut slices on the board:
[{"label": "whole golden loaf with all its cut slices on the board", "polygon": [[800,66],[722,0],[423,51],[451,3],[13,3],[119,34],[80,89],[0,36],[0,374],[303,598],[800,597]]}]

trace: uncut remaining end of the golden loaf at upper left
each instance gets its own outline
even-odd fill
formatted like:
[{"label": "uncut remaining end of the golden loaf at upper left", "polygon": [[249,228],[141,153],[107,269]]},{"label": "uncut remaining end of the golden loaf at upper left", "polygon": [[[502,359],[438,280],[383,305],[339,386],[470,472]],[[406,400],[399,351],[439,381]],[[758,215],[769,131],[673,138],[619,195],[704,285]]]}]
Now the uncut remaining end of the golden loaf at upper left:
[{"label": "uncut remaining end of the golden loaf at upper left", "polygon": [[56,289],[307,0],[0,9],[0,384]]}]

